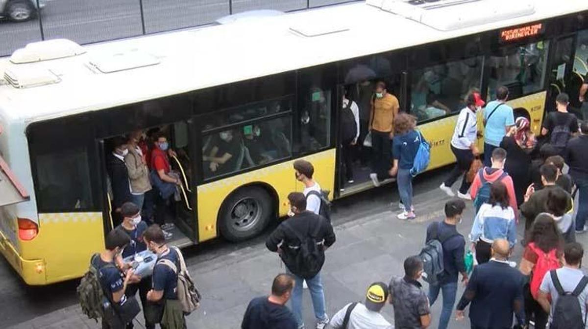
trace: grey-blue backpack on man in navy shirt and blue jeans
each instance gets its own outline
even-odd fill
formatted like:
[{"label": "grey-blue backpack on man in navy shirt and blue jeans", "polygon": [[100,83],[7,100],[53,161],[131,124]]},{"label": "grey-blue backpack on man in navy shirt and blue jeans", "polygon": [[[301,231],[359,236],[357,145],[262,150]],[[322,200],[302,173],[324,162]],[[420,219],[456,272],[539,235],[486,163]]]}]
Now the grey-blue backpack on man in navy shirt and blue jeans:
[{"label": "grey-blue backpack on man in navy shirt and blue jeans", "polygon": [[419,257],[423,261],[423,272],[426,276],[423,279],[429,284],[435,284],[442,279],[442,274],[445,272],[445,263],[443,263],[443,243],[453,236],[459,235],[459,233],[452,235],[439,235],[439,225],[437,222],[433,226],[431,232],[431,239],[425,243],[425,247],[420,250]]}]

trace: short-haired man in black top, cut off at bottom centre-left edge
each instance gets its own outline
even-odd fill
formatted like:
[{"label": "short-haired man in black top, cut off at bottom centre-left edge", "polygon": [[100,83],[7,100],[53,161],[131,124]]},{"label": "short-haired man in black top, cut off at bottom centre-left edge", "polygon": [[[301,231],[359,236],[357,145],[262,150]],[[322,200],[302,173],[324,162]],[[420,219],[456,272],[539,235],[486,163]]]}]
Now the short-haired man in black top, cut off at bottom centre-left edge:
[{"label": "short-haired man in black top, cut off at bottom centre-left edge", "polygon": [[269,297],[257,297],[249,302],[241,329],[296,329],[294,314],[286,307],[294,284],[292,276],[278,274]]}]

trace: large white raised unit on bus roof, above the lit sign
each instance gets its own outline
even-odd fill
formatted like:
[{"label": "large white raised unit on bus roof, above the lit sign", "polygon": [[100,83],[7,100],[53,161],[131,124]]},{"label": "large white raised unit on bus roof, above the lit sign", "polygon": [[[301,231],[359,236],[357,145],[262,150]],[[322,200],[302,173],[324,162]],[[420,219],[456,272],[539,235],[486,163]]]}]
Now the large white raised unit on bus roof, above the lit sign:
[{"label": "large white raised unit on bus roof, above the lit sign", "polygon": [[443,31],[535,12],[533,0],[366,0],[366,4]]}]

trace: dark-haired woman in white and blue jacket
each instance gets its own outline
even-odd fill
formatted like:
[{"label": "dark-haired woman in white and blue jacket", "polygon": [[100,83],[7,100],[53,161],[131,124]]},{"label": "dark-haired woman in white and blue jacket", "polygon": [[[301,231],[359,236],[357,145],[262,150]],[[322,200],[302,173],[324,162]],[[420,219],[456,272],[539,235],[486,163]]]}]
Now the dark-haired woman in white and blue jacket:
[{"label": "dark-haired woman in white and blue jacket", "polygon": [[509,205],[509,194],[506,185],[501,181],[492,183],[490,199],[480,207],[470,232],[472,249],[476,251],[478,264],[490,260],[492,242],[506,239],[510,249],[516,243],[515,210]]}]

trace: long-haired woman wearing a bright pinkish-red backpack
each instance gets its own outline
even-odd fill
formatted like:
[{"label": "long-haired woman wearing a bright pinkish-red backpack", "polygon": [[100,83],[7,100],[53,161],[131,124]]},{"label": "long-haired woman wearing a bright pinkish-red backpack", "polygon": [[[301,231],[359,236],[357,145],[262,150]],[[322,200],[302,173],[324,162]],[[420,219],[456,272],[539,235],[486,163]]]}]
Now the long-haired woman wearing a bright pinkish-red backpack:
[{"label": "long-haired woman wearing a bright pinkish-red backpack", "polygon": [[[537,273],[535,268],[540,258],[555,257],[560,260],[563,255],[563,237],[553,218],[546,214],[537,216],[531,229],[527,232],[527,246],[523,252],[523,259],[520,262],[519,270],[526,276],[529,276],[529,284],[526,284],[524,293],[524,312],[527,327],[529,319],[534,316],[536,329],[544,329],[547,324],[548,314],[543,310],[533,296],[534,281],[541,282],[545,273]],[[560,267],[560,266],[557,266]],[[556,267],[556,268],[557,268]],[[539,291],[537,290],[537,293]]]}]

